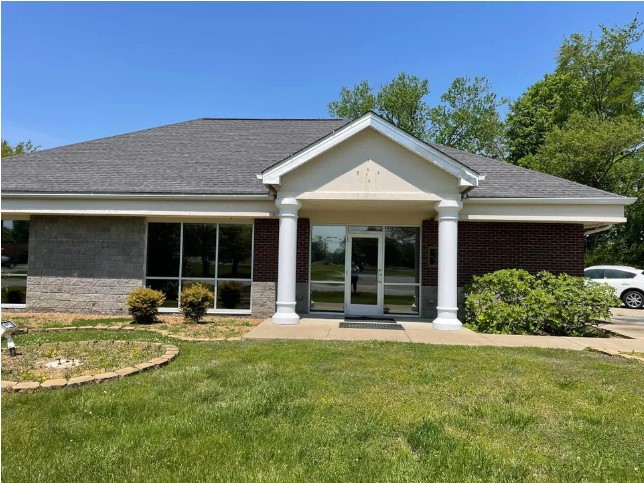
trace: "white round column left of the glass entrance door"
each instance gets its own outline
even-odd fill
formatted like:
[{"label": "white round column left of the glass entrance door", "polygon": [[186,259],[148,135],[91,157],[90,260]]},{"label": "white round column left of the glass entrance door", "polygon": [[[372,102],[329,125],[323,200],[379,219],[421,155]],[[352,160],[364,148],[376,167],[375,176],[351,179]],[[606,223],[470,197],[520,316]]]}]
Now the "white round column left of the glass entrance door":
[{"label": "white round column left of the glass entrance door", "polygon": [[299,324],[295,313],[295,268],[297,263],[297,212],[295,198],[275,200],[280,214],[279,260],[277,267],[277,311],[274,324]]}]

